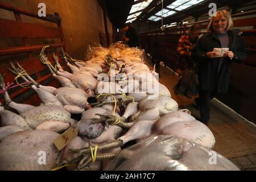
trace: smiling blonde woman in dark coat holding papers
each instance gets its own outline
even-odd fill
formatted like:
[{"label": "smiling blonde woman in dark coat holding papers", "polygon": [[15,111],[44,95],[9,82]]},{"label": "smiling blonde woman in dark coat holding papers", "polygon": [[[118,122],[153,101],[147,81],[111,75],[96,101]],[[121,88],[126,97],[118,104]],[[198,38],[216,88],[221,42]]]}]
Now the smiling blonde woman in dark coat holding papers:
[{"label": "smiling blonde woman in dark coat holding papers", "polygon": [[[232,30],[233,20],[226,10],[217,11],[208,25],[208,34],[201,36],[192,49],[192,59],[199,64],[200,121],[208,125],[210,118],[210,100],[217,92],[228,91],[230,65],[233,61],[246,59],[245,42],[241,31]],[[229,48],[223,56],[214,48]]]}]

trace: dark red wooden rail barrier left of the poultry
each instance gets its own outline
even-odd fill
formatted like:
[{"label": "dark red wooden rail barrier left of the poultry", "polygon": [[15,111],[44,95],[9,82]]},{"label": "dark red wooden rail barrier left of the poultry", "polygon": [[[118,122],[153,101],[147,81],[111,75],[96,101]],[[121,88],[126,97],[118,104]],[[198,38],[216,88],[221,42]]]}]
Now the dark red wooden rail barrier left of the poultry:
[{"label": "dark red wooden rail barrier left of the poultry", "polygon": [[[26,69],[29,75],[34,76],[37,82],[58,88],[60,86],[59,82],[51,78],[51,74],[49,73],[46,65],[41,63],[39,60],[39,53],[44,46],[49,46],[45,52],[48,60],[53,63],[53,57],[50,55],[50,53],[55,52],[56,56],[59,57],[59,51],[57,51],[56,48],[63,47],[64,50],[68,52],[61,26],[61,20],[58,20],[60,18],[56,16],[57,14],[52,16],[56,18],[39,17],[36,14],[29,13],[25,10],[7,5],[6,3],[2,2],[0,2],[0,9],[12,11],[16,19],[0,19],[0,39],[2,38],[4,40],[8,40],[9,42],[12,40],[21,39],[23,44],[23,46],[8,46],[0,48],[0,72],[6,73],[5,81],[15,82],[15,75],[11,73],[7,67],[10,68],[9,61],[18,61],[19,64]],[[43,20],[44,22],[51,22],[56,24],[56,26],[49,27],[41,24],[26,23],[23,22],[21,15],[37,18]],[[47,39],[51,39],[51,41],[48,41],[49,43],[46,44],[30,44],[28,41],[34,40],[34,42],[37,42],[39,38],[45,39],[45,43],[47,42]],[[59,42],[54,39],[58,39]],[[13,60],[13,56],[15,57],[15,60]],[[64,60],[59,59],[59,61],[61,65],[64,65]],[[39,97],[31,89],[22,88],[19,86],[18,88],[11,89],[9,91],[10,97],[14,101],[35,106],[40,104]],[[5,103],[3,100],[3,94],[0,94],[0,101],[2,104]]]}]

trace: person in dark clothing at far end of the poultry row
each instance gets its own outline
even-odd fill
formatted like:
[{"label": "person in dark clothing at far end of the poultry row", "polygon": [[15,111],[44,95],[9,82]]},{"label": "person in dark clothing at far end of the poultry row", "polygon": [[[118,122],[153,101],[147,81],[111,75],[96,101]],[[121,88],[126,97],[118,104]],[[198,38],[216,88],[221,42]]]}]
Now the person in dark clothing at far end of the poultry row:
[{"label": "person in dark clothing at far end of the poultry row", "polygon": [[123,38],[123,40],[128,43],[129,47],[141,47],[138,33],[134,27],[123,24],[122,30],[125,32],[125,38]]}]

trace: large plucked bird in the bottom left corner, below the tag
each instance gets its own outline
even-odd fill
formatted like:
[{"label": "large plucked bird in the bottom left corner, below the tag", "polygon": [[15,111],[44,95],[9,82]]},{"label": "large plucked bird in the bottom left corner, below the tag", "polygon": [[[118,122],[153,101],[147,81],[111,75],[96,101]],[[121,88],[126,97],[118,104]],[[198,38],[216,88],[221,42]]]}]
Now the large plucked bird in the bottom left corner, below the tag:
[{"label": "large plucked bird in the bottom left corner, below the tag", "polygon": [[41,171],[59,166],[62,151],[53,144],[57,137],[53,131],[40,130],[7,136],[0,143],[0,170]]}]

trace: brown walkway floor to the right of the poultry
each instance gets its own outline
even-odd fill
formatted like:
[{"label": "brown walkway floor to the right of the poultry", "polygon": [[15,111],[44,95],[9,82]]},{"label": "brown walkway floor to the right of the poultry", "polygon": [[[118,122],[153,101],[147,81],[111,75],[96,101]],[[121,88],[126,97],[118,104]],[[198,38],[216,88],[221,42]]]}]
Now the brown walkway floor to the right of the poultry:
[{"label": "brown walkway floor to the right of the poultry", "polygon": [[[160,66],[159,81],[167,86],[180,108],[191,110],[192,115],[199,119],[200,111],[195,109],[193,101],[196,96],[189,99],[174,93],[173,86],[178,80],[179,77],[173,75],[171,69]],[[214,151],[232,160],[242,170],[256,170],[255,127],[250,126],[214,99],[210,103],[209,129],[216,139]]]}]

